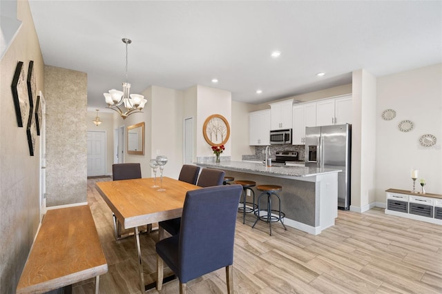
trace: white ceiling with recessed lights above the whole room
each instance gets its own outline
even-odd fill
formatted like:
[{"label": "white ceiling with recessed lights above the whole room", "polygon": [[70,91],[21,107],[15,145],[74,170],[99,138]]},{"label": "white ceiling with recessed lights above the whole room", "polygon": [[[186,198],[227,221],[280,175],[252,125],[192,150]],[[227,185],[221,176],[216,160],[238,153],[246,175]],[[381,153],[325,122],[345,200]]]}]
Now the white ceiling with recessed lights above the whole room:
[{"label": "white ceiling with recessed lights above the whole room", "polygon": [[124,37],[131,93],[199,84],[251,104],[442,62],[442,1],[29,2],[44,63],[86,72],[94,109],[126,81]]}]

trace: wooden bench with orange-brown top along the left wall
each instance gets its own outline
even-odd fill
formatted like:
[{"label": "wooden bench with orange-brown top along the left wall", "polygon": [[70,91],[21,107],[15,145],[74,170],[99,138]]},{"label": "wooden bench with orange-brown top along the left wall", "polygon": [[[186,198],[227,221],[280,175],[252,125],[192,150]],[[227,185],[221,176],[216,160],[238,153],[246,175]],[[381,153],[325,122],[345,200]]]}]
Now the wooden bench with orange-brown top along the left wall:
[{"label": "wooden bench with orange-brown top along the left wall", "polygon": [[17,293],[45,293],[107,273],[88,205],[48,210],[21,273]]}]

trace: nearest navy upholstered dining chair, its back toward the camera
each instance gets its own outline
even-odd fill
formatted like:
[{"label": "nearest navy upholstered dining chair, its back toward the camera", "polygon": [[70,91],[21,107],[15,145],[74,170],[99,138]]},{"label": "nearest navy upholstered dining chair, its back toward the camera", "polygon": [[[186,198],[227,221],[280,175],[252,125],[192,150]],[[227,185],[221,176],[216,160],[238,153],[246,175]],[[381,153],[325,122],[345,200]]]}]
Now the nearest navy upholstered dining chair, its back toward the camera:
[{"label": "nearest navy upholstered dining chair, its back toward the camera", "polygon": [[180,280],[180,293],[187,282],[226,268],[227,293],[233,293],[233,244],[242,186],[215,186],[186,193],[178,235],[162,239],[157,251],[157,290],[162,288],[166,263]]}]

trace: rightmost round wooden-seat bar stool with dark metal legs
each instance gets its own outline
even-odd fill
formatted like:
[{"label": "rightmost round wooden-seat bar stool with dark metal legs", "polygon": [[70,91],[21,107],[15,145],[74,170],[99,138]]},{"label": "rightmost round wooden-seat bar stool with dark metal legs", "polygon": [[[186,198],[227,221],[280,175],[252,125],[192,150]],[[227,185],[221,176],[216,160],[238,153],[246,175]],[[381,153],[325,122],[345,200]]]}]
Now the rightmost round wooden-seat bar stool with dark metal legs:
[{"label": "rightmost round wooden-seat bar stool with dark metal legs", "polygon": [[[255,227],[258,220],[261,220],[262,222],[268,222],[269,223],[269,229],[270,229],[270,235],[271,235],[271,223],[272,222],[281,222],[282,226],[284,226],[285,231],[287,231],[287,228],[285,227],[284,222],[282,222],[282,219],[285,217],[285,213],[281,211],[281,198],[278,195],[277,192],[280,192],[282,190],[281,186],[276,185],[259,185],[256,187],[256,190],[262,191],[262,193],[258,196],[258,209],[255,210],[256,215],[256,221],[255,224],[253,224],[252,228]],[[267,214],[260,215],[260,199],[262,196],[267,195]],[[278,197],[278,210],[271,209],[271,196],[275,195]],[[265,211],[266,210],[262,210]],[[271,215],[271,212],[278,213],[278,216]]]}]

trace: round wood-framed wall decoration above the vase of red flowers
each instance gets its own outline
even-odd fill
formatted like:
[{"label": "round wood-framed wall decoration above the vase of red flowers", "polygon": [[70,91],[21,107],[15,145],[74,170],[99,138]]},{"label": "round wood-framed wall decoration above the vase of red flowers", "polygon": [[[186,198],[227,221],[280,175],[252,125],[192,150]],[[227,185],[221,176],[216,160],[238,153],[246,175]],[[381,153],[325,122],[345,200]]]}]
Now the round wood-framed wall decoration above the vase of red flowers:
[{"label": "round wood-framed wall decoration above the vase of red flowers", "polygon": [[211,146],[225,145],[230,137],[229,121],[222,115],[211,115],[202,126],[202,135]]}]

